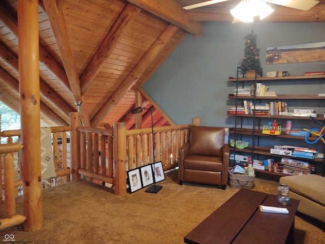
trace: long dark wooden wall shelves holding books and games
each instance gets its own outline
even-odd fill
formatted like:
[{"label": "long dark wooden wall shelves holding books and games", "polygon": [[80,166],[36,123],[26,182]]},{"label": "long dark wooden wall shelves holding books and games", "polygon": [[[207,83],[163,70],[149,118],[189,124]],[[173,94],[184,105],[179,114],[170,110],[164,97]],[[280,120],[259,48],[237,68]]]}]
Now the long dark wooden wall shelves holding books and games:
[{"label": "long dark wooden wall shelves holding books and games", "polygon": [[[308,84],[310,83],[311,80],[315,80],[317,82],[324,82],[325,83],[325,75],[313,75],[313,76],[286,76],[286,77],[257,77],[257,78],[234,78],[234,77],[229,77],[229,82],[235,82],[237,83],[237,88],[239,88],[239,83],[241,84],[242,87],[246,86],[251,86],[252,84],[255,85],[257,82],[265,82],[268,85],[269,84],[274,84],[278,85],[280,81],[288,81],[287,83],[295,85],[297,82],[300,84]],[[305,82],[305,83],[304,83]],[[306,100],[307,102],[309,100],[314,100],[318,101],[319,103],[325,103],[325,96],[317,96],[316,94],[290,94],[290,95],[277,95],[277,96],[237,96],[236,94],[229,94],[228,99],[235,99],[236,100],[236,107],[241,106],[242,101],[244,100],[254,100],[255,102],[267,102],[267,101],[287,101],[289,104],[290,101],[297,100]],[[325,117],[321,115],[317,115],[316,119],[324,121]],[[281,141],[281,140],[293,140],[296,143],[299,143],[301,141],[302,143],[305,143],[305,137],[300,137],[300,136],[289,136],[285,133],[285,131],[282,131],[280,135],[268,135],[268,134],[263,134],[262,129],[261,129],[261,119],[279,119],[281,120],[301,120],[300,123],[303,123],[306,125],[307,128],[310,127],[309,123],[311,123],[310,117],[306,116],[287,116],[287,115],[264,115],[264,114],[240,114],[240,113],[230,113],[228,112],[228,116],[235,116],[235,127],[230,130],[230,135],[234,139],[241,139],[242,136],[251,137],[253,143],[243,149],[240,148],[235,148],[235,147],[230,147],[234,153],[236,152],[241,152],[243,154],[251,154],[252,158],[254,158],[254,155],[258,157],[259,156],[266,156],[266,157],[272,157],[272,158],[281,158],[284,156],[281,155],[274,155],[270,154],[270,149],[273,148],[274,144],[272,144],[272,141]],[[252,128],[247,127],[246,123],[246,128],[243,126],[243,121],[247,118],[251,118],[253,121],[253,126]],[[256,121],[255,121],[256,120]],[[240,123],[240,126],[237,124]],[[256,125],[255,125],[256,124]],[[315,126],[316,127],[316,126]],[[284,127],[285,128],[285,127]],[[264,138],[268,141],[268,145],[263,144],[263,146],[259,145],[260,138]],[[275,139],[276,138],[276,139]],[[311,137],[310,140],[313,138]],[[257,142],[257,143],[256,143]],[[320,142],[318,142],[320,143]],[[319,145],[319,147],[321,147]],[[321,151],[320,151],[321,153]],[[325,153],[325,144],[322,147],[322,153]],[[305,159],[305,158],[297,158],[297,157],[287,157],[286,158],[291,158],[291,159],[296,159],[300,161],[306,161],[306,162],[313,162],[315,164],[322,164],[322,172],[321,174],[324,175],[325,171],[325,159],[322,158],[317,158],[317,159]],[[278,175],[278,176],[284,176],[287,174],[282,174],[282,173],[277,173],[274,171],[267,171],[267,170],[258,170],[254,169],[255,172],[262,172],[262,173],[267,173],[267,174],[273,174],[273,175]]]}]

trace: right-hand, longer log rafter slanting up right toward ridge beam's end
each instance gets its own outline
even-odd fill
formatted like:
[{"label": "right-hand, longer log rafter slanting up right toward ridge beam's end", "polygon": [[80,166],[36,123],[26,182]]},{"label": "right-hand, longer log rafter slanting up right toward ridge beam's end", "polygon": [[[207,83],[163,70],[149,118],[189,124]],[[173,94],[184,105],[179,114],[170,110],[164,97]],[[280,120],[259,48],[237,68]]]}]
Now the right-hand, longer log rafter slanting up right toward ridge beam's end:
[{"label": "right-hand, longer log rafter slanting up right toward ridge beam's end", "polygon": [[150,64],[157,58],[160,51],[164,49],[174,35],[179,31],[179,28],[174,25],[169,25],[163,34],[151,46],[149,51],[140,60],[139,64],[134,70],[126,77],[123,83],[117,88],[112,97],[103,106],[94,118],[91,120],[92,127],[97,127],[106,115],[113,109],[118,101],[128,92],[128,90],[137,82]]}]

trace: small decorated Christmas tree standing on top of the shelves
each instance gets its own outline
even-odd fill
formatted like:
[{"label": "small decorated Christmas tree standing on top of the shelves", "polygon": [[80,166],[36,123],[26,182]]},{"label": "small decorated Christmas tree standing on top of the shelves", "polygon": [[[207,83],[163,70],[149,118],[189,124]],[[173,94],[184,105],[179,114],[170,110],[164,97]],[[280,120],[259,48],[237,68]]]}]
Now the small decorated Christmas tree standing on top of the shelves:
[{"label": "small decorated Christmas tree standing on top of the shelves", "polygon": [[256,44],[256,34],[254,31],[245,36],[245,56],[242,58],[241,66],[242,73],[248,70],[254,70],[259,76],[263,76],[261,61],[259,60],[259,49]]}]

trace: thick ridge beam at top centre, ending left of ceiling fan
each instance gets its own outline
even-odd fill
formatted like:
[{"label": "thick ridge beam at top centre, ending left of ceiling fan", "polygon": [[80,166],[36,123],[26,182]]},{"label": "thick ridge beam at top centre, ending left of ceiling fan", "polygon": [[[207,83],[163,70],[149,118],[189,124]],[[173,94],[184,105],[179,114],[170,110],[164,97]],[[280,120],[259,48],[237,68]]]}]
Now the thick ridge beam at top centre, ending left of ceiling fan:
[{"label": "thick ridge beam at top centre, ending left of ceiling fan", "polygon": [[185,16],[183,6],[174,0],[127,0],[127,2],[133,3],[139,8],[184,29],[186,32],[191,33],[194,36],[203,36],[202,23],[188,20]]}]

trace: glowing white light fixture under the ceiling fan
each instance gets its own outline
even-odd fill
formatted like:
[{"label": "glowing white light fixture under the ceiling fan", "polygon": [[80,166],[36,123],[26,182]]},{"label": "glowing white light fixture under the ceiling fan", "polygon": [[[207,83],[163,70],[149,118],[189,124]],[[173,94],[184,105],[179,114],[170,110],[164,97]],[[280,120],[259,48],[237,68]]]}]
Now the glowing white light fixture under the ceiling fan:
[{"label": "glowing white light fixture under the ceiling fan", "polygon": [[272,9],[264,0],[242,0],[230,13],[234,18],[250,23],[254,21],[254,16],[264,19],[273,13]]}]

